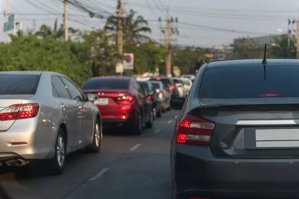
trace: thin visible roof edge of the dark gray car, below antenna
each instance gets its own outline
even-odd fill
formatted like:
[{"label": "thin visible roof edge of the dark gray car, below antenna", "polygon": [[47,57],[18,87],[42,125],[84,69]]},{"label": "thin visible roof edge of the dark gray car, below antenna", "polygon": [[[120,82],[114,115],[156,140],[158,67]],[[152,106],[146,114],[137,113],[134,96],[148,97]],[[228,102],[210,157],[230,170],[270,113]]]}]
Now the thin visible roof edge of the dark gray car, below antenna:
[{"label": "thin visible roof edge of the dark gray car, below antenna", "polygon": [[[206,68],[216,68],[224,66],[248,66],[262,65],[262,59],[243,59],[243,60],[219,60],[207,63]],[[267,59],[267,65],[299,65],[299,60],[296,59]]]}]

